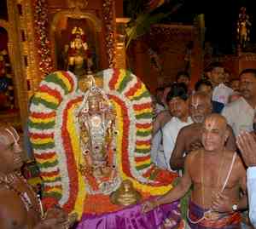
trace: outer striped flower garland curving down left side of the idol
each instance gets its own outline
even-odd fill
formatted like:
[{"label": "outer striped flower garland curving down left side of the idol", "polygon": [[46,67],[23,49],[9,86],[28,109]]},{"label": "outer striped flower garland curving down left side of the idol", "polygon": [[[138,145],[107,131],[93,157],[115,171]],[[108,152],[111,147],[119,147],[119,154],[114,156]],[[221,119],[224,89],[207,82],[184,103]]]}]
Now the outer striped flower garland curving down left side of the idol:
[{"label": "outer striped flower garland curving down left side of the idol", "polygon": [[60,158],[56,153],[56,110],[63,94],[77,88],[75,76],[70,72],[54,72],[39,85],[30,107],[29,133],[35,158],[44,180],[44,204],[46,208],[58,202],[62,196],[63,176],[60,174]]}]

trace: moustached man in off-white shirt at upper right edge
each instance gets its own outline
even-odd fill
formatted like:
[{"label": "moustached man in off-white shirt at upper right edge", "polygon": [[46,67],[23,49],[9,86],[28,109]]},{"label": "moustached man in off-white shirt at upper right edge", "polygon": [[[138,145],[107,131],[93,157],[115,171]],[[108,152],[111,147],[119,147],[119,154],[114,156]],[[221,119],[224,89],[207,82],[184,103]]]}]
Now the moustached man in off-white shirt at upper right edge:
[{"label": "moustached man in off-white shirt at upper right edge", "polygon": [[224,106],[222,115],[239,135],[242,130],[253,130],[256,106],[256,69],[245,69],[240,73],[241,98]]}]

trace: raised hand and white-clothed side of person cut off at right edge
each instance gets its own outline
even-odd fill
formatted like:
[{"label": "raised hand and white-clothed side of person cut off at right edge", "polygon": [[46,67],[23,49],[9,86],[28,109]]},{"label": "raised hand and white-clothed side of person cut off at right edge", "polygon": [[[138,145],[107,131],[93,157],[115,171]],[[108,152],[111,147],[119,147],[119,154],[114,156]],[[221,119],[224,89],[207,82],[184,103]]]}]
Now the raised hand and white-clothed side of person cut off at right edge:
[{"label": "raised hand and white-clothed side of person cut off at right edge", "polygon": [[[256,129],[255,129],[256,130]],[[256,140],[255,134],[241,132],[236,143],[247,165],[247,193],[249,200],[249,217],[256,228]]]}]

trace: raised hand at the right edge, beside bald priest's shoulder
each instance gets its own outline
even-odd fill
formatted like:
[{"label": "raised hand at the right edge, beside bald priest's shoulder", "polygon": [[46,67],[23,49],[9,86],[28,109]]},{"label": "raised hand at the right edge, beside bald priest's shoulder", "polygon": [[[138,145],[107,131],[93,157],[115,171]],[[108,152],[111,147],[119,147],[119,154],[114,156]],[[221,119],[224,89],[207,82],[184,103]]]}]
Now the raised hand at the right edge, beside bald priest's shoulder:
[{"label": "raised hand at the right edge, beside bald priest's shoulder", "polygon": [[242,131],[236,138],[236,144],[241,151],[244,163],[248,167],[256,166],[256,140],[253,134]]}]

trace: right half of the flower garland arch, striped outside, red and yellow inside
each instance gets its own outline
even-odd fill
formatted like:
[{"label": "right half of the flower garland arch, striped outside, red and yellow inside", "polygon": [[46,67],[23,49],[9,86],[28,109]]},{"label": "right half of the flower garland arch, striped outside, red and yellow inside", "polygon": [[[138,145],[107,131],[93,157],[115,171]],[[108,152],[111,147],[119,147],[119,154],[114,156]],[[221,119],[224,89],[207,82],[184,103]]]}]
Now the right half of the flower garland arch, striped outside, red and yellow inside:
[{"label": "right half of the flower garland arch, striped outside, red and yellow inside", "polygon": [[[119,152],[122,152],[119,164],[122,165],[123,179],[133,178],[137,189],[151,195],[169,191],[171,186],[168,185],[177,175],[156,168],[150,159],[152,107],[148,90],[137,77],[125,70],[109,70],[102,75],[106,81],[108,79],[104,89],[110,94],[119,117],[117,142]],[[135,144],[131,141],[132,136],[136,136]],[[127,147],[133,145],[134,149]]]}]

